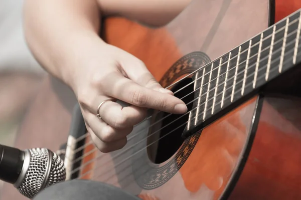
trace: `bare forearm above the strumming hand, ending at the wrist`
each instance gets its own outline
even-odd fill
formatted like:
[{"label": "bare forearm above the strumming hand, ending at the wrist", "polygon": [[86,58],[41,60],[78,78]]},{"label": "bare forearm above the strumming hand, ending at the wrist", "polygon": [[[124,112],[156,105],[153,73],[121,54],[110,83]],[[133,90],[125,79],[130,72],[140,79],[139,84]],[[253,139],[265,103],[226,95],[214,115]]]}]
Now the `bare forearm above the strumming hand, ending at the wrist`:
[{"label": "bare forearm above the strumming hand, ending at the wrist", "polygon": [[65,82],[69,81],[76,62],[74,57],[79,58],[80,45],[97,36],[99,18],[95,0],[25,0],[24,3],[24,29],[30,49],[48,72]]}]

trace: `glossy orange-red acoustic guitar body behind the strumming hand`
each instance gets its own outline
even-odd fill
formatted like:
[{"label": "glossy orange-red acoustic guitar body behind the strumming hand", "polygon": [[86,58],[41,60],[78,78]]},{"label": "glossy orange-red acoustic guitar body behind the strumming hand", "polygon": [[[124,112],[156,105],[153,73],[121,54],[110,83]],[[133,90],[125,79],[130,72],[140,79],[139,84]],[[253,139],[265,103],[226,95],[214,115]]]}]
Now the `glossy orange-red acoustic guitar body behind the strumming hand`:
[{"label": "glossy orange-red acoustic guitar body behind the strumming hand", "polygon": [[[299,0],[192,0],[160,28],[121,17],[104,19],[101,37],[141,59],[169,86],[300,7]],[[74,107],[72,91],[51,76],[45,78],[16,146],[56,151],[81,136],[80,155],[68,159],[70,150],[65,155],[69,178],[75,174],[104,181],[143,200],[301,198],[299,97],[254,95],[185,140],[181,131],[159,142],[164,133],[152,134],[156,128],[140,133],[153,117],[135,127],[123,149],[106,154],[84,132],[70,136]],[[72,165],[75,159],[77,166]],[[1,198],[26,199],[8,184]]]}]

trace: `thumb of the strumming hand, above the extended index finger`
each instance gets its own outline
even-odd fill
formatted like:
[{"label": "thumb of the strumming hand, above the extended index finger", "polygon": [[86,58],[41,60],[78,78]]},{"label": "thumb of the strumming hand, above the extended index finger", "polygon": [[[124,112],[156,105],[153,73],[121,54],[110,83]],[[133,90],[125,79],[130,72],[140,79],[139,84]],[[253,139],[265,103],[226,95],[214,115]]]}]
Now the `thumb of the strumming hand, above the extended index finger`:
[{"label": "thumb of the strumming hand, above the extended index finger", "polygon": [[135,57],[134,61],[123,63],[123,66],[128,78],[137,84],[162,93],[174,95],[171,90],[162,87],[153,74],[149,72],[145,64],[138,58]]}]

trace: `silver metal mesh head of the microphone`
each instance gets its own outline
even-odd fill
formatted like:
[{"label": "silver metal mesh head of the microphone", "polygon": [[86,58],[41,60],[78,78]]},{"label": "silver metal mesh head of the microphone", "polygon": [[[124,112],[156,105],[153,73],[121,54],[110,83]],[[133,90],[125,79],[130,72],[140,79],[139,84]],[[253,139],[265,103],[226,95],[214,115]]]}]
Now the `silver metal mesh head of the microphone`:
[{"label": "silver metal mesh head of the microphone", "polygon": [[[47,148],[32,148],[29,152],[29,167],[18,190],[24,196],[33,198],[42,189],[65,180],[66,170],[60,156]],[[48,166],[49,158],[51,158],[51,166]],[[47,173],[47,166],[50,167],[49,173]]]}]

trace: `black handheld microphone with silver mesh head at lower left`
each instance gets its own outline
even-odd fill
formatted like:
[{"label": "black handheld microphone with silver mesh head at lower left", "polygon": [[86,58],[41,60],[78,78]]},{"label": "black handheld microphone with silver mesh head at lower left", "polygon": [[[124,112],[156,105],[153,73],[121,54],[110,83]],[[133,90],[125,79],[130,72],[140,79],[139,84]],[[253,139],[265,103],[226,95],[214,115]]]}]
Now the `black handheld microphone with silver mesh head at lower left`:
[{"label": "black handheld microphone with silver mesh head at lower left", "polygon": [[64,181],[66,169],[60,156],[47,148],[18,148],[0,144],[0,179],[33,198],[44,188]]}]

